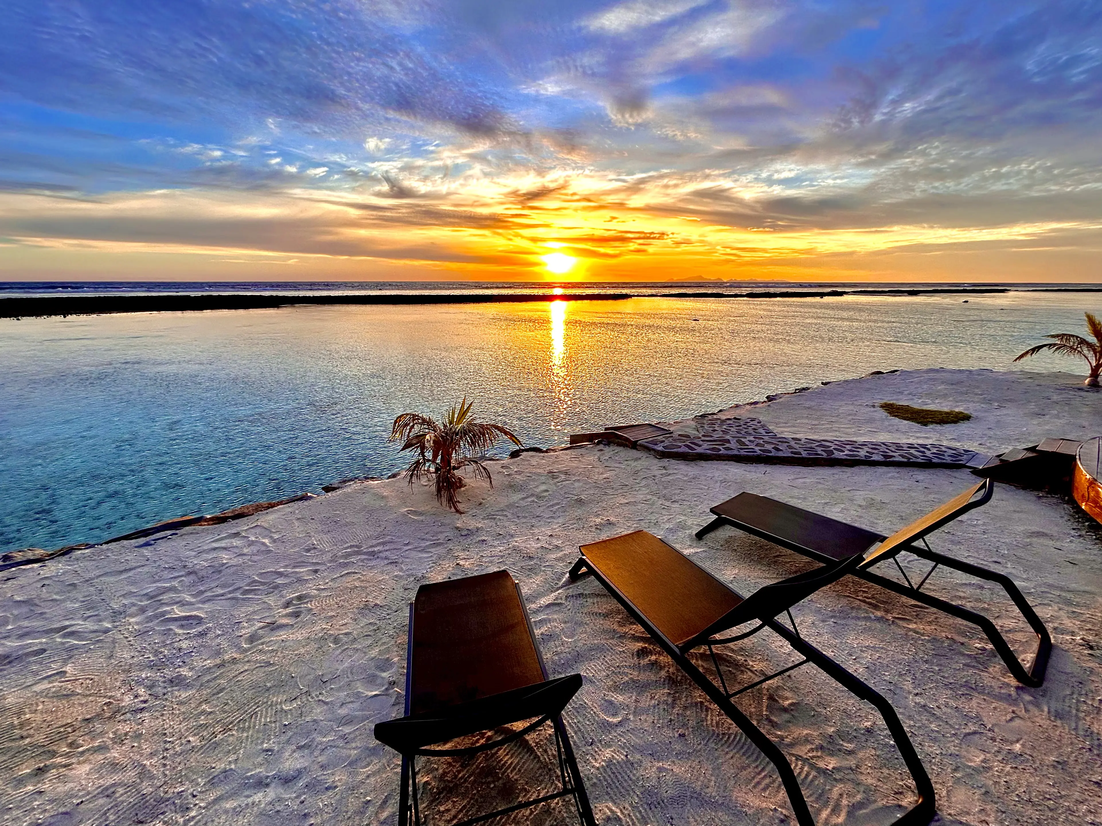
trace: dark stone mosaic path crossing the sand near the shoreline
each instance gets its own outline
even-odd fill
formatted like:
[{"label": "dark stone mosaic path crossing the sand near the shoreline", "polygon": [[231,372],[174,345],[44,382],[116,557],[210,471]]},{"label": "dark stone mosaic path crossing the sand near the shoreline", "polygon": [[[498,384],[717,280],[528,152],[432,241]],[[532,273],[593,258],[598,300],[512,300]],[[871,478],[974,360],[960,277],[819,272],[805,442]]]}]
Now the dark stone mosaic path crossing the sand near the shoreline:
[{"label": "dark stone mosaic path crossing the sand near the shoreline", "polygon": [[642,439],[640,449],[671,459],[725,459],[814,465],[973,467],[985,456],[950,445],[781,436],[759,419],[698,419],[695,433]]}]

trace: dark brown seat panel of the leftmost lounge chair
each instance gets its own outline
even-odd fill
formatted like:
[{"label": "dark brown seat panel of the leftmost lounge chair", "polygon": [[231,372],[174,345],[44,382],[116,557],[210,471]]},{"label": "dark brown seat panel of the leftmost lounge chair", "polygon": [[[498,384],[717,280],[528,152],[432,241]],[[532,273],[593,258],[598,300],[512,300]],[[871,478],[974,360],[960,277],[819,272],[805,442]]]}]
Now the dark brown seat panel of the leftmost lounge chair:
[{"label": "dark brown seat panel of the leftmost lounge chair", "polygon": [[507,570],[422,585],[413,600],[410,642],[410,715],[547,680]]}]

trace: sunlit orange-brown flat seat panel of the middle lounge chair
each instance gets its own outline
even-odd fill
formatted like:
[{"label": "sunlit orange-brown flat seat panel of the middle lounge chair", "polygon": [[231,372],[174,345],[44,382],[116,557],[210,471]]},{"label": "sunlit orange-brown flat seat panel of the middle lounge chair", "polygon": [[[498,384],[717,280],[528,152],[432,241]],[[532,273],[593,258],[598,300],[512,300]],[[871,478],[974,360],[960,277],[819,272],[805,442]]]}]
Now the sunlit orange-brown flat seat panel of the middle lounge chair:
[{"label": "sunlit orange-brown flat seat panel of the middle lounge chair", "polygon": [[743,598],[646,531],[588,545],[582,554],[674,645],[682,645]]}]

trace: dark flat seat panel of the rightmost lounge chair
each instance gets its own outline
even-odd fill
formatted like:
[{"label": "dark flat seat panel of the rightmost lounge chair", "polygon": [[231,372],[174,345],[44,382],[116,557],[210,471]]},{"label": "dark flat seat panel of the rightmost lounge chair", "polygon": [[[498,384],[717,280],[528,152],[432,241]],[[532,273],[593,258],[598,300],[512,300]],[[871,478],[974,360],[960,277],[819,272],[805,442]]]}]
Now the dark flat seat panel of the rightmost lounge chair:
[{"label": "dark flat seat panel of the rightmost lounge chair", "polygon": [[884,539],[873,531],[757,493],[739,493],[712,508],[712,513],[778,545],[793,550],[798,546],[801,553],[810,551],[832,559],[864,554]]}]

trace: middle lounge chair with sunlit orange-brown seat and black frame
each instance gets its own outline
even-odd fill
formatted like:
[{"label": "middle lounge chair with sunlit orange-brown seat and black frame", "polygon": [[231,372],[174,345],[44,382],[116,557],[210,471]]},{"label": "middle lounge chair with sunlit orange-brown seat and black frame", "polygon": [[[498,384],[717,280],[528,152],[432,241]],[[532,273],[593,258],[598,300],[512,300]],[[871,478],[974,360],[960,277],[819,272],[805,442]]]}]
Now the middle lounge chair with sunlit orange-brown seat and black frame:
[{"label": "middle lounge chair with sunlit orange-brown seat and black frame", "polygon": [[[809,662],[880,713],[918,790],[918,802],[895,823],[928,824],[934,811],[933,785],[895,709],[873,688],[800,637],[792,619],[792,606],[845,576],[860,562],[860,556],[832,559],[829,565],[767,585],[743,598],[673,546],[646,531],[636,531],[583,545],[582,556],[571,568],[570,577],[576,579],[586,573],[593,574],[720,710],[761,750],[777,768],[800,826],[813,826],[814,819],[791,764],[778,746],[738,710],[732,698]],[[777,620],[781,613],[788,615],[791,629]],[[757,626],[733,635],[722,635],[748,622],[757,622]],[[714,646],[745,640],[764,628],[774,631],[803,659],[749,685],[728,688]],[[719,683],[689,659],[691,651],[703,648],[711,655]]]}]

